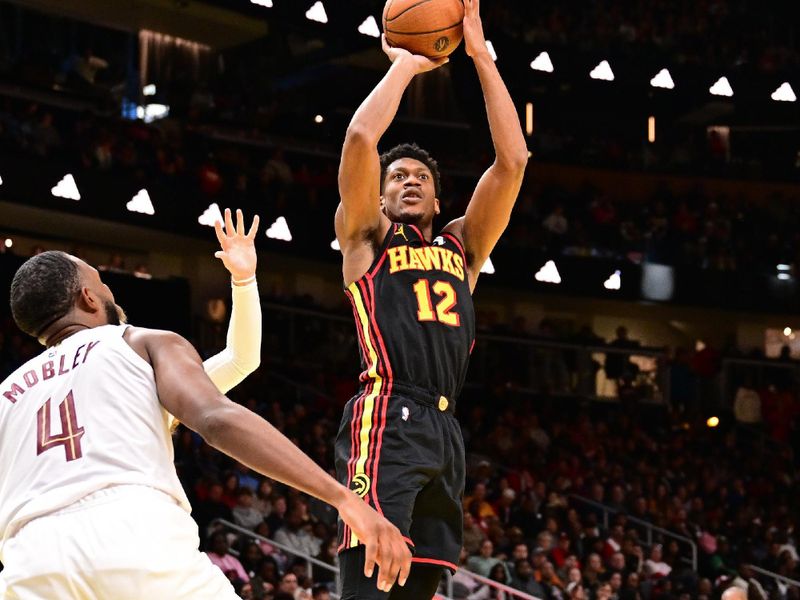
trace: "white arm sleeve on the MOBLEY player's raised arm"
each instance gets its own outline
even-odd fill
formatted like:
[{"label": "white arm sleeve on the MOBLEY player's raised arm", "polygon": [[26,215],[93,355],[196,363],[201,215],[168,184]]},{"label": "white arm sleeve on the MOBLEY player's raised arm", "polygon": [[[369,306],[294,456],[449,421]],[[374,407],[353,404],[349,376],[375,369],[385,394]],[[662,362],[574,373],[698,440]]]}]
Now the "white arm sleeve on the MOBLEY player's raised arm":
[{"label": "white arm sleeve on the MOBLEY player's raised arm", "polygon": [[217,389],[226,394],[261,364],[261,300],[258,284],[231,285],[233,309],[225,349],[203,363]]}]

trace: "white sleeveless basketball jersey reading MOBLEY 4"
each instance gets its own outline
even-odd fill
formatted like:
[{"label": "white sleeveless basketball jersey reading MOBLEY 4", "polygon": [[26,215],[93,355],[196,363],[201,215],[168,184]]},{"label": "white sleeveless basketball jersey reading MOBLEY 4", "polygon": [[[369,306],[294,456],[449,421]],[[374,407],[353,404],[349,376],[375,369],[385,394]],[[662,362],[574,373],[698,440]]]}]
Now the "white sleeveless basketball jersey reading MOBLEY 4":
[{"label": "white sleeveless basketball jersey reading MOBLEY 4", "polygon": [[0,560],[27,521],[111,485],[148,485],[191,510],[153,369],[126,328],[75,333],[0,386]]}]

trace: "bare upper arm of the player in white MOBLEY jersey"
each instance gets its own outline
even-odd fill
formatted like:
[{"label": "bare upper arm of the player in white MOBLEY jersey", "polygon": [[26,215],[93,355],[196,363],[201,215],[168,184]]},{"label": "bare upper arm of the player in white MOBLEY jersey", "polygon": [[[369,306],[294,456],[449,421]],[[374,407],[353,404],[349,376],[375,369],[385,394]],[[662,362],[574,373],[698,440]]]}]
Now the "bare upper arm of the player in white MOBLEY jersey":
[{"label": "bare upper arm of the player in white MOBLEY jersey", "polygon": [[207,415],[228,400],[206,375],[200,355],[181,336],[152,332],[146,344],[161,404],[176,419],[202,434]]}]

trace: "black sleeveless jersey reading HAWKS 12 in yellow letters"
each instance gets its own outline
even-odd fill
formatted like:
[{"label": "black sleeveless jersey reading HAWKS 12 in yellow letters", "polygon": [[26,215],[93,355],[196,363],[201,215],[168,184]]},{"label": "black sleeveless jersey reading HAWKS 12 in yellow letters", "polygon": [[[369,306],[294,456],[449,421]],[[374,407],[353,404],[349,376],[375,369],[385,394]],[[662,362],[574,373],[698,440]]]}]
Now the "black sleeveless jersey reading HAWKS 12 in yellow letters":
[{"label": "black sleeveless jersey reading HAWKS 12 in yellow letters", "polygon": [[428,243],[417,227],[392,223],[375,262],[346,293],[368,393],[404,387],[458,397],[475,340],[475,311],[464,248],[455,236],[441,233]]}]

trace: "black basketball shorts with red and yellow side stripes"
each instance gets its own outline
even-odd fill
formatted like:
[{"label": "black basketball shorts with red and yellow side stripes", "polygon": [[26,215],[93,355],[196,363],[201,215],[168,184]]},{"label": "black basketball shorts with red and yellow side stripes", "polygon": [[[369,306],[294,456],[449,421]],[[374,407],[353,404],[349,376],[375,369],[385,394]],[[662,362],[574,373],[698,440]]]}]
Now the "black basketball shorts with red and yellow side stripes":
[{"label": "black basketball shorts with red and yellow side stripes", "polygon": [[[385,388],[384,388],[385,389]],[[457,569],[463,538],[464,439],[444,396],[393,382],[345,406],[336,438],[339,481],[391,521],[414,562]],[[358,547],[339,522],[339,551]]]}]

